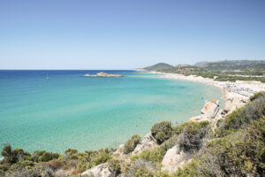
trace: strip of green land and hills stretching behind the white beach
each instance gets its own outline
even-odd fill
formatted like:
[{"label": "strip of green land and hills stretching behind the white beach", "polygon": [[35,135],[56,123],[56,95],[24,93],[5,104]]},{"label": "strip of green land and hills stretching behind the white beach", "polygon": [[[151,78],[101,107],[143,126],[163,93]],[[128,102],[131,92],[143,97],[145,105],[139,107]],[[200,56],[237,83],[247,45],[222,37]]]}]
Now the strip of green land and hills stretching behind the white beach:
[{"label": "strip of green land and hills stretching behind the white beach", "polygon": [[215,81],[261,81],[265,83],[265,61],[260,60],[224,60],[176,66],[159,63],[144,69],[163,73],[178,73],[186,76],[201,76]]}]

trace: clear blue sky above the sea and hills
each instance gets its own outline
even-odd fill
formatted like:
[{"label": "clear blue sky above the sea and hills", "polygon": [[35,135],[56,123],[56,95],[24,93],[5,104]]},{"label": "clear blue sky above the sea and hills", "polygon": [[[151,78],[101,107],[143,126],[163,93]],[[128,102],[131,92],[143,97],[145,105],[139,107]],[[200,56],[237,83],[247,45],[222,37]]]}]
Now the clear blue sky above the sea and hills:
[{"label": "clear blue sky above the sea and hills", "polygon": [[0,0],[0,69],[265,59],[264,0]]}]

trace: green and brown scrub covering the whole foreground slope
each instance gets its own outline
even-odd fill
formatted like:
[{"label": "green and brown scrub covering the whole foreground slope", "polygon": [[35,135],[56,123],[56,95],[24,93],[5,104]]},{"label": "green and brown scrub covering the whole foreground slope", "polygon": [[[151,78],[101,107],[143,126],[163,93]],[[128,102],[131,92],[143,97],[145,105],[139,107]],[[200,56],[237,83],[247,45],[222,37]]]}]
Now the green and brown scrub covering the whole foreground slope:
[{"label": "green and brown scrub covering the whole foreground slope", "polygon": [[[265,93],[250,98],[244,107],[216,123],[208,121],[172,125],[170,121],[151,127],[158,146],[133,154],[139,135],[125,142],[125,156],[115,150],[68,149],[64,154],[37,150],[33,154],[6,144],[0,162],[1,176],[79,176],[107,163],[112,176],[264,176],[265,175]],[[175,173],[163,170],[163,158],[178,147],[188,159]]]}]

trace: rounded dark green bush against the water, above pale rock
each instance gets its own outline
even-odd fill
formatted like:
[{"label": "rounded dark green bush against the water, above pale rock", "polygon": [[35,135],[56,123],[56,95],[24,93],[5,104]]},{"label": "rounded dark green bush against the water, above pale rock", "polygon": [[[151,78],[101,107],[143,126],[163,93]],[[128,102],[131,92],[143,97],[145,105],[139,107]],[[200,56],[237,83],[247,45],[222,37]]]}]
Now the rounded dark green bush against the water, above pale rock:
[{"label": "rounded dark green bush against the water, above pale rock", "polygon": [[172,127],[170,121],[162,121],[155,123],[151,128],[151,133],[155,137],[155,140],[158,144],[163,143],[172,135]]}]

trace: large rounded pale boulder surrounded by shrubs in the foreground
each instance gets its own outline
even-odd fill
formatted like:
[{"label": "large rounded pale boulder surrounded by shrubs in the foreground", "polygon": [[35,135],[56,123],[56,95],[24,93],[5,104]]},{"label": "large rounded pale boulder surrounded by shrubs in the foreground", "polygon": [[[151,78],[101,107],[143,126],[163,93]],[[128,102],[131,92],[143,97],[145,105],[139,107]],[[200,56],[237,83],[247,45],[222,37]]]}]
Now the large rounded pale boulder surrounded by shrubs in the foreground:
[{"label": "large rounded pale boulder surrounded by shrubs in the foreground", "polygon": [[174,173],[190,161],[191,158],[183,150],[179,150],[178,146],[174,146],[164,155],[161,170]]}]

